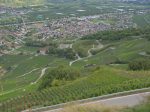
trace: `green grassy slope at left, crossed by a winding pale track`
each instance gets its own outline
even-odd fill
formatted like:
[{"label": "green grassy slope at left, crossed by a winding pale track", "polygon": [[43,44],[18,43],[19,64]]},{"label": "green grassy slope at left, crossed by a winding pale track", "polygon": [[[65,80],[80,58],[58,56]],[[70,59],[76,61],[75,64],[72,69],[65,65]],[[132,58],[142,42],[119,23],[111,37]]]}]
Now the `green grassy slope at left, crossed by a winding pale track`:
[{"label": "green grassy slope at left, crossed by a winding pale track", "polygon": [[[38,84],[30,84],[39,78],[43,68],[47,66],[55,67],[61,64],[68,65],[68,63],[68,60],[53,56],[9,55],[1,57],[0,65],[5,69],[11,67],[11,70],[0,80],[3,86],[3,92],[0,89],[0,94],[4,94],[4,97],[1,98],[11,98],[16,95],[36,90]],[[23,77],[18,77],[32,71],[33,69],[37,70]],[[25,92],[23,91],[24,89],[26,90]]]}]

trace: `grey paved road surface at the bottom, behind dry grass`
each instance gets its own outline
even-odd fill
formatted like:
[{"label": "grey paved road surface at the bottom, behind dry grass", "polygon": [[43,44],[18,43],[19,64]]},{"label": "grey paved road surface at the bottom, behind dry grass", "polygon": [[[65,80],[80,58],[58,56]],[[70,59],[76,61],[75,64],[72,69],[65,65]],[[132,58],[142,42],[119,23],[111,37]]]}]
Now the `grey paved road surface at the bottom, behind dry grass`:
[{"label": "grey paved road surface at the bottom, behind dry grass", "polygon": [[[85,103],[81,105],[87,105],[87,104],[105,104],[108,106],[135,106],[140,104],[142,101],[145,100],[146,96],[149,96],[150,92],[145,93],[139,93],[139,94],[133,94],[128,96],[121,96],[121,97],[115,97],[115,98],[109,98],[105,100],[99,100],[94,101],[90,103]],[[44,112],[61,112],[62,108],[50,110],[50,111],[44,111]]]}]

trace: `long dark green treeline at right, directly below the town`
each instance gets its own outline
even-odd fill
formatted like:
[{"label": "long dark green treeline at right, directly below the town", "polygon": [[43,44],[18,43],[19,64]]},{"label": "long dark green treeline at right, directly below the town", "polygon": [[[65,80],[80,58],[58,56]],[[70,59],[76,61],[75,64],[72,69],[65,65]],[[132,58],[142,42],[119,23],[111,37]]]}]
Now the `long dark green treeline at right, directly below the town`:
[{"label": "long dark green treeline at right, directly below the town", "polygon": [[82,39],[97,39],[97,40],[121,40],[129,38],[131,36],[141,36],[142,38],[147,38],[150,40],[150,27],[147,28],[129,28],[124,30],[108,30],[97,32],[95,34],[86,35]]}]

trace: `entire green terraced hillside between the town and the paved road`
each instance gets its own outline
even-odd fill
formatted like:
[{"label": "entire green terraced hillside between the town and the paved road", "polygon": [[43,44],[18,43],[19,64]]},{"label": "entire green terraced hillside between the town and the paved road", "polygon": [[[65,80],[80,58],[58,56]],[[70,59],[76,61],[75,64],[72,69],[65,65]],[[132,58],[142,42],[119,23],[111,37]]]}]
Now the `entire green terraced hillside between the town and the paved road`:
[{"label": "entire green terraced hillside between the town and the paved road", "polygon": [[[148,31],[148,29],[123,30],[117,31],[118,33],[109,31],[111,32],[109,36],[108,33],[101,32],[82,39],[54,41],[64,47],[69,44],[70,49],[78,55],[75,59],[68,59],[64,55],[60,57],[59,53],[64,53],[64,50],[59,46],[58,48],[49,46],[50,53],[42,55],[37,52],[41,47],[24,45],[14,50],[11,55],[2,56],[0,66],[5,70],[5,74],[0,77],[0,109],[3,112],[15,112],[34,106],[54,105],[149,87],[149,70],[129,71],[128,68],[129,62],[136,59],[145,59],[148,62],[150,58]],[[119,32],[122,34],[121,38]],[[80,57],[80,52],[85,55]],[[59,70],[59,67],[71,71],[77,69],[81,75],[70,80],[70,70],[56,71],[52,74],[51,70]],[[69,74],[66,75],[67,72]],[[68,78],[65,79],[64,76]],[[50,80],[48,78],[45,80],[45,77],[49,77]],[[46,84],[46,87],[39,89],[41,84]]]}]

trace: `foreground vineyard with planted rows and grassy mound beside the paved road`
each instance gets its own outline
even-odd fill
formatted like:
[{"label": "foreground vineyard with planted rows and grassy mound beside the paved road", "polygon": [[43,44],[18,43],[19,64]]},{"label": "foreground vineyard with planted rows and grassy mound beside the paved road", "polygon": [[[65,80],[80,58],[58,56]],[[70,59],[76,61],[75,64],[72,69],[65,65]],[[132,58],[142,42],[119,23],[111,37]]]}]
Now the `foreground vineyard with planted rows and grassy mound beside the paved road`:
[{"label": "foreground vineyard with planted rows and grassy mound beside the paved road", "polygon": [[83,77],[68,85],[33,92],[3,102],[0,105],[0,112],[19,112],[29,108],[150,87],[148,76],[150,73],[144,71],[137,73],[101,67],[88,77]]}]

